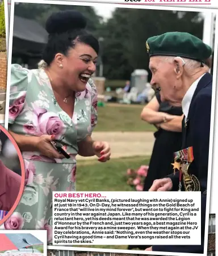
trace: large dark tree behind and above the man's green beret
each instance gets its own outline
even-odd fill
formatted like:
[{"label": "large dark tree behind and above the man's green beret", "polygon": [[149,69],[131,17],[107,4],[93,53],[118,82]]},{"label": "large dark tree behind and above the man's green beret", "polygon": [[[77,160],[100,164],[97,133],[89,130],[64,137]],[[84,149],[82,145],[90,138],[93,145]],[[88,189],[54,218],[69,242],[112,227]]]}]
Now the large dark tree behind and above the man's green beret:
[{"label": "large dark tree behind and above the man's green beret", "polygon": [[137,68],[149,70],[146,40],[169,31],[202,38],[203,18],[196,12],[117,8],[104,24],[104,76],[129,79]]}]

